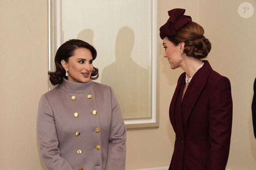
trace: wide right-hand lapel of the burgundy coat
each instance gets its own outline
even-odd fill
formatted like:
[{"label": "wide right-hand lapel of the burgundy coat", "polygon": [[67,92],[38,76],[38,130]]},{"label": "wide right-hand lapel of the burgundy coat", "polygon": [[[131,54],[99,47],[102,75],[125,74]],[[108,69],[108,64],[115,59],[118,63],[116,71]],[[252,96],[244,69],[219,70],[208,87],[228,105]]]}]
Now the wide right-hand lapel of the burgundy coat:
[{"label": "wide right-hand lapel of the burgundy coat", "polygon": [[[207,60],[204,60],[204,66],[196,72],[196,74],[193,76],[191,82],[189,83],[189,86],[187,91],[189,90],[188,97],[183,100],[186,103],[183,110],[183,116],[184,116],[184,126],[185,129],[187,128],[188,124],[188,118],[191,114],[191,111],[193,107],[196,105],[196,101],[198,100],[206,82],[209,74],[211,73],[211,66]],[[186,130],[185,130],[186,131]]]}]

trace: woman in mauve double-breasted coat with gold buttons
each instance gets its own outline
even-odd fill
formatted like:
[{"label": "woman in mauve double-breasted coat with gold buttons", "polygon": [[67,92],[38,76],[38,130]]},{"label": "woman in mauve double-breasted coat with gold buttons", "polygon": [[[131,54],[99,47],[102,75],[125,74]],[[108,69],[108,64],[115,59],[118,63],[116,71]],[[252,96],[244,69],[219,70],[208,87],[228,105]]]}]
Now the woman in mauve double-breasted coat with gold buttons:
[{"label": "woman in mauve double-breasted coat with gold buttons", "polygon": [[[120,107],[93,67],[97,52],[81,40],[62,44],[41,96],[37,133],[48,170],[125,170],[126,128]],[[91,80],[92,79],[92,80]]]}]

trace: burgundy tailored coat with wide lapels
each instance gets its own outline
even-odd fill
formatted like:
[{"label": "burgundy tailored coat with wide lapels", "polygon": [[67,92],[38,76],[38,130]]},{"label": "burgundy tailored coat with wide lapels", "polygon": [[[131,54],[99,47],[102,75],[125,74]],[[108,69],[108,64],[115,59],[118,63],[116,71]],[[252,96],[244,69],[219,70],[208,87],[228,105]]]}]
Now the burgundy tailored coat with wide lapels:
[{"label": "burgundy tailored coat with wide lapels", "polygon": [[[181,74],[169,108],[176,134],[169,170],[225,170],[232,126],[232,97],[228,78],[208,61],[196,72],[181,102]],[[181,92],[181,93],[180,93]],[[180,100],[178,100],[180,99]]]}]

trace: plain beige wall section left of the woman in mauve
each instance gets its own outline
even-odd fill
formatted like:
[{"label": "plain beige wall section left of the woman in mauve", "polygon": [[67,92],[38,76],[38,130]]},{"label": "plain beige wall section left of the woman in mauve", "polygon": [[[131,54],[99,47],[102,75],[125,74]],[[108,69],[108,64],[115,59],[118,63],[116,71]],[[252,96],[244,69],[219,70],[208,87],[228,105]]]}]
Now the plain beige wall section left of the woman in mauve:
[{"label": "plain beige wall section left of the woman in mauve", "polygon": [[36,114],[47,88],[47,0],[0,0],[0,169],[40,170]]}]

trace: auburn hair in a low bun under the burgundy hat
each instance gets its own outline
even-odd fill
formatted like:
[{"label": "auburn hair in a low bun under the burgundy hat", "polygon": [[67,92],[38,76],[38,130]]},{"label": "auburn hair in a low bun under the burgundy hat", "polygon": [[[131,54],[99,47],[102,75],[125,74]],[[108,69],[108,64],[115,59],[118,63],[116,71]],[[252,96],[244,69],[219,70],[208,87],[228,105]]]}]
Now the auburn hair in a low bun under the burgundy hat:
[{"label": "auburn hair in a low bun under the burgundy hat", "polygon": [[203,34],[202,26],[196,22],[188,22],[177,30],[176,35],[167,36],[167,38],[175,45],[184,42],[184,53],[186,55],[196,59],[203,59],[211,51],[211,43]]}]

